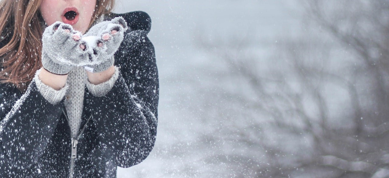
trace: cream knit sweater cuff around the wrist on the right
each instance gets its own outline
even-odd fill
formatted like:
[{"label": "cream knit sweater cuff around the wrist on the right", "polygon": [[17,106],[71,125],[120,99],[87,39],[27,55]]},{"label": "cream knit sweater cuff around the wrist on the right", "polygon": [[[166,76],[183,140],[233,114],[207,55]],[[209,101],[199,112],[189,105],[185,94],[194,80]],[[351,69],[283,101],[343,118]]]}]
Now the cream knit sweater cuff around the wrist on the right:
[{"label": "cream knit sweater cuff around the wrist on the right", "polygon": [[86,80],[86,87],[88,87],[89,92],[97,97],[105,96],[115,85],[117,78],[119,78],[119,68],[117,66],[114,67],[115,73],[112,75],[112,77],[101,84],[95,85],[89,82],[89,80]]}]

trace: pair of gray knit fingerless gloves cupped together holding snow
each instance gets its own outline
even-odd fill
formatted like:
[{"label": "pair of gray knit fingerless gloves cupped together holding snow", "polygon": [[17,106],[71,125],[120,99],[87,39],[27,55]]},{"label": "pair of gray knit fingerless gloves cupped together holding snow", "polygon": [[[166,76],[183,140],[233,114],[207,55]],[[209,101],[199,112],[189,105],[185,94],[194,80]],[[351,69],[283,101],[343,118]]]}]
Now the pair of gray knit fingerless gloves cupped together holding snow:
[{"label": "pair of gray knit fingerless gloves cupped together holding snow", "polygon": [[74,66],[88,66],[93,72],[103,72],[114,63],[127,23],[115,17],[91,27],[85,35],[71,25],[56,22],[42,36],[42,64],[54,74],[63,75]]}]

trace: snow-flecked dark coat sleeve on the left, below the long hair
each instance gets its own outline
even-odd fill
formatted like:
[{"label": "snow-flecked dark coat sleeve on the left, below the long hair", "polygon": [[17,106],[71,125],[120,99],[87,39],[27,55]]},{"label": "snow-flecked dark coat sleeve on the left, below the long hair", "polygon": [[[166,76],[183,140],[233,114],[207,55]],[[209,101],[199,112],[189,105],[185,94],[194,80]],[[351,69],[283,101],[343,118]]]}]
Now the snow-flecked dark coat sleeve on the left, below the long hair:
[{"label": "snow-flecked dark coat sleeve on the left, below the long hair", "polygon": [[64,99],[53,105],[38,91],[35,80],[22,93],[0,84],[0,163],[28,168],[42,156],[63,110]]}]

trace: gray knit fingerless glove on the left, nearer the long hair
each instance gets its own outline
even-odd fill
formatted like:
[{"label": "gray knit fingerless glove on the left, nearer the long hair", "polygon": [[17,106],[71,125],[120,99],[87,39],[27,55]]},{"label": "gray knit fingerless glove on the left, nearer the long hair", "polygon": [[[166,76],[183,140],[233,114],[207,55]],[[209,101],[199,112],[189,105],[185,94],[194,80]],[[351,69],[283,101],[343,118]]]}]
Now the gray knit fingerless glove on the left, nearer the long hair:
[{"label": "gray knit fingerless glove on the left, nearer the long hair", "polygon": [[81,49],[82,33],[69,24],[56,22],[42,36],[42,64],[47,71],[67,74],[74,66],[89,63],[87,51]]}]

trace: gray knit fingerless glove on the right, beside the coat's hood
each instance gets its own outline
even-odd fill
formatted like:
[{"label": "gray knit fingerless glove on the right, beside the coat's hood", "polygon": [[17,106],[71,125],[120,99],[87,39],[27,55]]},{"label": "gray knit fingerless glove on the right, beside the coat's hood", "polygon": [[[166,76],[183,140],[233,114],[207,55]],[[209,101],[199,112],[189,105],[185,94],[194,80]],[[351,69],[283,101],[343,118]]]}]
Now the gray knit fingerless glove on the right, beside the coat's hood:
[{"label": "gray knit fingerless glove on the right, beside the coat's hood", "polygon": [[114,53],[123,41],[127,23],[123,17],[115,17],[92,26],[82,36],[89,53],[90,61],[87,67],[91,72],[103,72],[114,64]]}]

